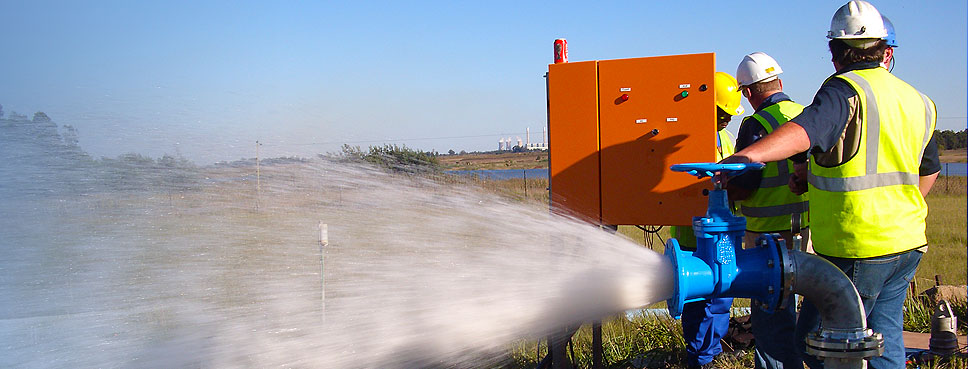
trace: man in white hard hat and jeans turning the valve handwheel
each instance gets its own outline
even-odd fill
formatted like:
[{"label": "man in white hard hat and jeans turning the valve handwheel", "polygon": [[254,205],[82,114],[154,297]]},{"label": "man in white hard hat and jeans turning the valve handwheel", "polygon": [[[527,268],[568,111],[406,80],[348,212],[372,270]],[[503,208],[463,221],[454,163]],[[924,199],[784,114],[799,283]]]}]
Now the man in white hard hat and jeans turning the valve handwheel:
[{"label": "man in white hard hat and jeans turning the valve handwheel", "polygon": [[[873,5],[851,1],[830,23],[837,72],[802,113],[723,162],[771,162],[810,150],[814,251],[851,278],[868,326],[884,335],[884,354],[871,367],[903,368],[902,308],[927,247],[924,196],[941,170],[932,138],[937,112],[931,99],[881,66],[887,30]],[[817,308],[805,301],[797,322],[801,348],[818,324]]]}]

